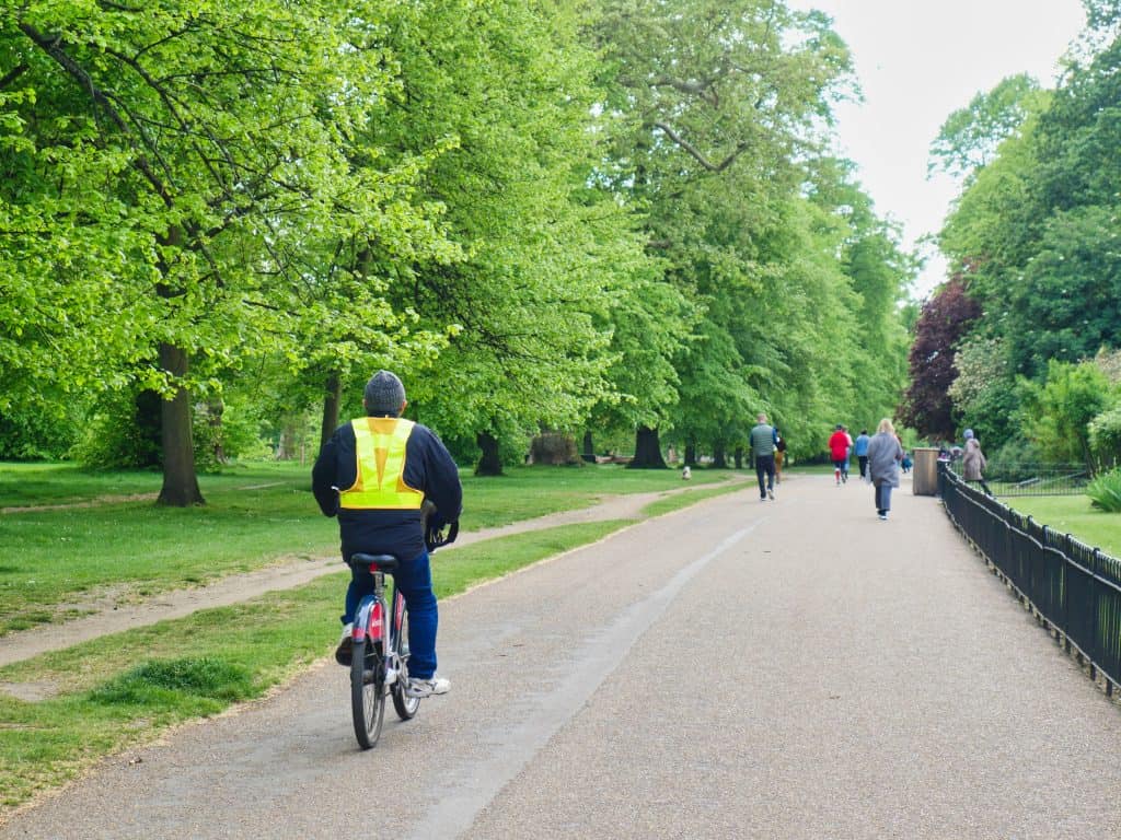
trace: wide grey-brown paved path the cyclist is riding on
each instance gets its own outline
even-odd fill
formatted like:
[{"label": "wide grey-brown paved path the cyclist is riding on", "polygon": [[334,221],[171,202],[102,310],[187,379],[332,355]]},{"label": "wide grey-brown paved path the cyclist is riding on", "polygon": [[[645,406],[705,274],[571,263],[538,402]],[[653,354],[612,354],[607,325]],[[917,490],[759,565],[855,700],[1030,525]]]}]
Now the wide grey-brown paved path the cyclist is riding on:
[{"label": "wide grey-brown paved path the cyclist is riding on", "polygon": [[453,692],[374,750],[325,661],[0,837],[1121,837],[1121,710],[932,498],[884,523],[867,486],[798,477],[441,618]]}]

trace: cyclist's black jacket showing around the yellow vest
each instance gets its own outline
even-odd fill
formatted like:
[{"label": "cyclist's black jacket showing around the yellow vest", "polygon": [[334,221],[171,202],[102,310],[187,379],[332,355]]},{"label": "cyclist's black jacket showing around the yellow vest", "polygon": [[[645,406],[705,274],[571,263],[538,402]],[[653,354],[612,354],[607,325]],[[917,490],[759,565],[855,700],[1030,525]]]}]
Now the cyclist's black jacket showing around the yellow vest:
[{"label": "cyclist's black jacket showing around the yellow vest", "polygon": [[[312,491],[325,516],[339,516],[343,559],[355,552],[395,554],[413,559],[424,551],[420,511],[341,511],[336,487],[350,487],[358,478],[354,427],[340,426],[323,445],[312,467]],[[435,432],[417,423],[405,446],[405,483],[423,491],[436,505],[439,519],[460,519],[463,488],[451,454]]]}]

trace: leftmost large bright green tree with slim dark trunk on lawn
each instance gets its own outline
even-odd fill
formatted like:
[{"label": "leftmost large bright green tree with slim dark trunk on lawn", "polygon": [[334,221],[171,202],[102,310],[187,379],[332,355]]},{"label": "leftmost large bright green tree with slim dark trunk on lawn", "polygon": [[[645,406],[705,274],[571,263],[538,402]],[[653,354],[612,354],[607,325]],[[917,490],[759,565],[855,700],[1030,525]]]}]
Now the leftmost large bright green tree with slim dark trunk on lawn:
[{"label": "leftmost large bright green tree with slim dark trunk on lawn", "polygon": [[[9,108],[19,97],[12,166],[38,195],[10,192],[6,206],[35,218],[21,248],[45,233],[67,242],[74,227],[92,245],[98,264],[80,288],[86,300],[104,292],[110,311],[99,305],[91,319],[120,320],[120,306],[129,335],[114,347],[142,364],[118,370],[164,395],[161,503],[202,501],[192,392],[287,332],[274,295],[303,278],[277,243],[377,212],[348,200],[368,193],[344,152],[392,81],[383,6],[41,1],[0,12],[0,49],[35,55],[4,93]],[[34,177],[41,167],[49,178]],[[89,260],[63,248],[55,262],[72,259]]]}]

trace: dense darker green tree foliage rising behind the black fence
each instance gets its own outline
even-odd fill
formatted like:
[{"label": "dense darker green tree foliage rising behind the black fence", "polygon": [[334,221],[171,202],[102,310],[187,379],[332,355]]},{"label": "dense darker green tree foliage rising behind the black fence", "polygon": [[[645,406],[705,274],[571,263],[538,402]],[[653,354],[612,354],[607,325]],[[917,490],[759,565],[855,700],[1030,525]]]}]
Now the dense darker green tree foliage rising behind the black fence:
[{"label": "dense darker green tree foliage rising behind the black fence", "polygon": [[[1117,3],[1087,11],[1054,91],[1006,80],[939,138],[969,169],[941,246],[979,307],[956,347],[953,420],[1090,464],[1092,413],[1113,401],[1090,360],[1118,347],[1121,327],[1121,38]],[[954,157],[955,142],[983,155]],[[1095,391],[1081,403],[1091,413],[1056,408]]]}]

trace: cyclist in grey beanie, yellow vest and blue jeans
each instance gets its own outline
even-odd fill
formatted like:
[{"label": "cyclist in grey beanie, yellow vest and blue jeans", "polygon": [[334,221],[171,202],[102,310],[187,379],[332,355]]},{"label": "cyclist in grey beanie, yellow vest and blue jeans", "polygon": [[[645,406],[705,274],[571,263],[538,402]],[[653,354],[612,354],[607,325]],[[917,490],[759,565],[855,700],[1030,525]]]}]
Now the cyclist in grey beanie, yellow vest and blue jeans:
[{"label": "cyclist in grey beanie, yellow vest and blue jeans", "polygon": [[[362,398],[367,417],[340,426],[323,445],[312,468],[315,501],[326,516],[339,516],[343,561],[351,556],[393,554],[400,564],[393,581],[405,596],[409,617],[410,697],[443,694],[451,683],[436,676],[438,613],[425,544],[420,507],[436,505],[429,532],[458,520],[463,502],[460,473],[430,429],[401,418],[405,386],[389,371],[378,371]],[[350,666],[354,612],[373,590],[373,578],[351,569],[335,660]]]}]

